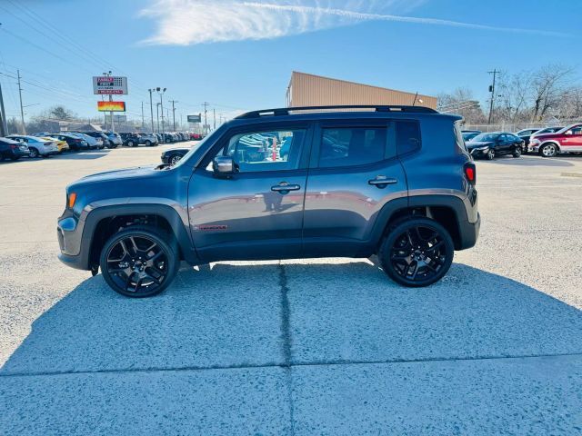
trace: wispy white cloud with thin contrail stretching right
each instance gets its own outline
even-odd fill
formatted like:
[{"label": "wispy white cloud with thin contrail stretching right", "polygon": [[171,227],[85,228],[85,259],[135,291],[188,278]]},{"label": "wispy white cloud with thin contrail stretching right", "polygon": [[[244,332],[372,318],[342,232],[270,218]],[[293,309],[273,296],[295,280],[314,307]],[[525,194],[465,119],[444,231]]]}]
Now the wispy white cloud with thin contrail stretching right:
[{"label": "wispy white cloud with thin contrail stretching right", "polygon": [[201,43],[271,39],[298,35],[366,21],[392,21],[417,25],[447,25],[488,31],[563,35],[553,32],[477,25],[436,18],[391,15],[408,12],[426,0],[404,1],[258,1],[156,0],[140,15],[156,20],[156,34],[143,41],[151,45],[195,45]]}]

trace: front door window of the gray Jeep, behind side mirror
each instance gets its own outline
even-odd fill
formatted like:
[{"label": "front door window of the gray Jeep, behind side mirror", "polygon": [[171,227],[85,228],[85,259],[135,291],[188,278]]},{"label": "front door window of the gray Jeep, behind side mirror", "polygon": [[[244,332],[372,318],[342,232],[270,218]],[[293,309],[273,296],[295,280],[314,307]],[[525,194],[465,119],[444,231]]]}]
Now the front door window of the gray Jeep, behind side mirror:
[{"label": "front door window of the gray Jeep, behind side mirror", "polygon": [[305,137],[306,129],[234,134],[216,155],[232,157],[239,173],[296,170]]}]

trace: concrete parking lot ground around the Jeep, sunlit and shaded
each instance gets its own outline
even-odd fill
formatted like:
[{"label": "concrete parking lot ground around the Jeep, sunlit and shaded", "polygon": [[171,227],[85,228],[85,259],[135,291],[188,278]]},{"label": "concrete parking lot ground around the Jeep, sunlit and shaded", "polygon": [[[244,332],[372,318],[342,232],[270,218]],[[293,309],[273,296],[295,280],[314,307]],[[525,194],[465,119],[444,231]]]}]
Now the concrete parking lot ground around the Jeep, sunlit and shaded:
[{"label": "concrete parking lot ground around the Jeep, sunlit and shaded", "polygon": [[0,163],[0,434],[582,434],[582,156],[477,162],[444,280],[216,263],[130,300],[56,258],[65,185],[163,148]]}]

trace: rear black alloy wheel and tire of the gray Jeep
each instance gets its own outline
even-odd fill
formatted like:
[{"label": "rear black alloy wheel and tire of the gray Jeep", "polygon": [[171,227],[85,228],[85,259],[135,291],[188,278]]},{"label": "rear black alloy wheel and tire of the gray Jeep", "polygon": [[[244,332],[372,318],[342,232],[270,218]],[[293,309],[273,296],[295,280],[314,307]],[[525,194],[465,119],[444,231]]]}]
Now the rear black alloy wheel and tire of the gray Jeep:
[{"label": "rear black alloy wheel and tire of the gray Jeep", "polygon": [[428,218],[409,218],[393,227],[378,257],[386,274],[409,287],[439,281],[453,263],[455,247],[447,230]]}]

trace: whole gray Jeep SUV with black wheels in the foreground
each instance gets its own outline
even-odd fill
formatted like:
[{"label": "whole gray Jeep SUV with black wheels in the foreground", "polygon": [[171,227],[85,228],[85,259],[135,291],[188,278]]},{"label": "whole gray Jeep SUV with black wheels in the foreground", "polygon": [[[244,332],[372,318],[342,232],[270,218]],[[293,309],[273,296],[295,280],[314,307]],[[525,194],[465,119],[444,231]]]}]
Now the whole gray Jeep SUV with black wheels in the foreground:
[{"label": "whole gray Jeep SUV with black wheels in the foreground", "polygon": [[182,261],[376,254],[426,286],[479,232],[476,168],[454,115],[426,107],[250,112],[175,166],[87,176],[66,189],[60,259],[116,291],[162,292]]}]

